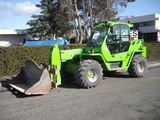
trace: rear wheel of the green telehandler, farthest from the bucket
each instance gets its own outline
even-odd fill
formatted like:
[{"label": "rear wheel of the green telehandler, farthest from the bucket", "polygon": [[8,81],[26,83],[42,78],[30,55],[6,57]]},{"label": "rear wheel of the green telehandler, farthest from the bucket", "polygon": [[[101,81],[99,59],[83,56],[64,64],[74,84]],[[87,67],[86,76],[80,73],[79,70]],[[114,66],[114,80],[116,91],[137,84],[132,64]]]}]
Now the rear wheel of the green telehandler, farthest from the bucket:
[{"label": "rear wheel of the green telehandler, farthest from the bucket", "polygon": [[128,68],[128,73],[132,77],[143,77],[147,72],[148,64],[147,59],[141,55],[135,55]]}]

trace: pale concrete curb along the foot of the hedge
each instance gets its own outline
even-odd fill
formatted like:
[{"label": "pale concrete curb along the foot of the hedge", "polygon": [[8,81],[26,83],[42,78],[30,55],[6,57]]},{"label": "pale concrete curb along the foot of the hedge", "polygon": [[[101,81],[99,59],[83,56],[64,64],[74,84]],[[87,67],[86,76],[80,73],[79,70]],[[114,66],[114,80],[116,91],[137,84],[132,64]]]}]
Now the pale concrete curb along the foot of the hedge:
[{"label": "pale concrete curb along the foot of the hedge", "polygon": [[[160,66],[160,63],[150,63],[148,65],[148,69],[152,69],[154,67],[159,67],[159,66]],[[8,85],[8,80],[11,80],[11,77],[13,76],[0,77],[0,87],[6,87]]]}]

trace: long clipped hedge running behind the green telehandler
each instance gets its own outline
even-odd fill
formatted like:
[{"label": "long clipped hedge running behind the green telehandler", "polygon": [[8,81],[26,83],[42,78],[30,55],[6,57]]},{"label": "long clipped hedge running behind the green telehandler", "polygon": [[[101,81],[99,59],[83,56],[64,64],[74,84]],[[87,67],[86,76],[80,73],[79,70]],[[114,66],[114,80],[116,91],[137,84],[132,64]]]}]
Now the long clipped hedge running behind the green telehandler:
[{"label": "long clipped hedge running behind the green telehandler", "polygon": [[[160,59],[160,43],[145,43],[147,59]],[[67,49],[83,48],[85,45],[68,45]],[[38,64],[48,63],[51,46],[15,46],[0,47],[0,76],[17,74],[27,59],[34,59]],[[59,45],[62,50],[63,46]]]}]

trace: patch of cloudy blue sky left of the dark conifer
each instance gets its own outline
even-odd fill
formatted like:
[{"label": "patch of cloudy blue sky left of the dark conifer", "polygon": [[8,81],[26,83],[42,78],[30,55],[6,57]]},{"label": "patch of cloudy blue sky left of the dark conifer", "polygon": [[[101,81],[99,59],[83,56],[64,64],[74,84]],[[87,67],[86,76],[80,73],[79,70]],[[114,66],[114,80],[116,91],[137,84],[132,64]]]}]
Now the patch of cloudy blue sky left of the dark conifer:
[{"label": "patch of cloudy blue sky left of the dark conifer", "polygon": [[26,29],[31,15],[39,14],[40,0],[0,0],[0,29]]}]

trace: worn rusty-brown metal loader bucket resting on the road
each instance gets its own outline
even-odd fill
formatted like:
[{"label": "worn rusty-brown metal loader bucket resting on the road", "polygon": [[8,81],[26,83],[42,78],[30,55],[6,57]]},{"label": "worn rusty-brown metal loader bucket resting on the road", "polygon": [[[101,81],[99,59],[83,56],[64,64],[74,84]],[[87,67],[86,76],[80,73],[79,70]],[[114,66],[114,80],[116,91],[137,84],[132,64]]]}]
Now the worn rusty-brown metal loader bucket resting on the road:
[{"label": "worn rusty-brown metal loader bucket resting on the road", "polygon": [[52,87],[47,69],[42,69],[33,60],[26,61],[26,66],[9,85],[26,95],[46,94]]}]

